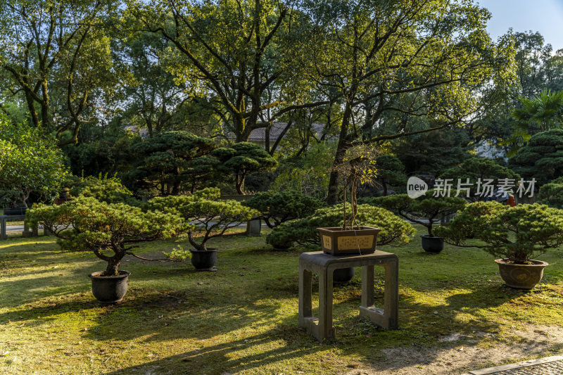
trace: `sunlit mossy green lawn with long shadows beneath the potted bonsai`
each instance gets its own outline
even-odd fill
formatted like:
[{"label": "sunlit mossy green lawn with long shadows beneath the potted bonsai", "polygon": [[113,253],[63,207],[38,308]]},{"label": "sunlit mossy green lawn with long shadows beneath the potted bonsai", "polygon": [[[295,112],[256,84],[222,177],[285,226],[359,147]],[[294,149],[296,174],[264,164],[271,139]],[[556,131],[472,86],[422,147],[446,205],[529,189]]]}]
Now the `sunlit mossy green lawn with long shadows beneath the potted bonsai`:
[{"label": "sunlit mossy green lawn with long shadows beneath the potted bonsai", "polygon": [[502,284],[482,250],[427,255],[419,242],[379,248],[399,256],[400,329],[358,317],[357,270],[334,289],[337,338],[321,344],[297,327],[301,251],[263,237],[213,239],[217,272],[125,258],[129,291],[110,306],[91,295],[87,274],[105,268],[93,254],[12,237],[0,241],[0,374],[462,374],[563,352],[560,253],[540,258],[550,266],[526,292]]}]

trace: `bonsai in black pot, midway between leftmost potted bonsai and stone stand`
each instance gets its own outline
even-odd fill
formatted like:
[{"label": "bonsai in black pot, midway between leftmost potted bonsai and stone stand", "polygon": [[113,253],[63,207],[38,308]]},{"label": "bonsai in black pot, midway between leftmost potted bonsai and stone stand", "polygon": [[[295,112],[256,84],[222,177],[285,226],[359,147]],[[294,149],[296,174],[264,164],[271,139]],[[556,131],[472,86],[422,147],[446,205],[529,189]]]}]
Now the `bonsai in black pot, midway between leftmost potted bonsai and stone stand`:
[{"label": "bonsai in black pot, midway between leftmost potted bonsai and stone stand", "polygon": [[[218,189],[216,189],[218,191]],[[211,190],[209,190],[211,191]],[[213,191],[211,191],[213,193]],[[210,194],[206,194],[210,196]],[[155,198],[148,202],[151,204],[162,204],[170,197]],[[195,224],[188,231],[188,241],[194,249],[191,249],[191,264],[196,269],[214,269],[217,261],[217,249],[208,248],[210,239],[222,236],[227,229],[239,226],[242,222],[251,220],[258,212],[241,205],[237,201],[211,201],[205,198],[190,198],[187,196],[175,197],[175,201],[168,206],[171,212],[179,212],[184,222]],[[194,234],[201,234],[196,237]]]}]

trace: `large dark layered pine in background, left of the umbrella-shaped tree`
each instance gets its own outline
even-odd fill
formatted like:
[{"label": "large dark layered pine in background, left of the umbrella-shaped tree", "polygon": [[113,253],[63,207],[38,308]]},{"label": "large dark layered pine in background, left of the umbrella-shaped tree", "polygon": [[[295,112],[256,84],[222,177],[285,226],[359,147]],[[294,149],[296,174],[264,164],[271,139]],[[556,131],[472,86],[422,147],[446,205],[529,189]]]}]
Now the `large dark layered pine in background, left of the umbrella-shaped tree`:
[{"label": "large dark layered pine in background, left of the umbrella-shaped tree", "polygon": [[133,146],[139,163],[126,178],[136,188],[156,189],[161,196],[194,191],[213,170],[215,160],[203,157],[216,147],[212,139],[189,132],[160,132]]}]

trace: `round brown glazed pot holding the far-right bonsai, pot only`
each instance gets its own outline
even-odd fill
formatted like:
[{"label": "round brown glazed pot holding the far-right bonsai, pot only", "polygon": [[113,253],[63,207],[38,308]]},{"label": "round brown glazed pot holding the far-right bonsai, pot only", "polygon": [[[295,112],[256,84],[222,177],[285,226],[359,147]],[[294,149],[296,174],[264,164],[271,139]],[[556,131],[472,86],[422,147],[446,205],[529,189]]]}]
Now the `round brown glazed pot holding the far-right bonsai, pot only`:
[{"label": "round brown glazed pot holding the far-right bonsai, pot only", "polygon": [[500,271],[500,277],[507,286],[517,289],[531,289],[538,284],[543,277],[543,269],[548,267],[548,262],[541,260],[530,260],[530,265],[515,265],[502,259],[495,259]]}]

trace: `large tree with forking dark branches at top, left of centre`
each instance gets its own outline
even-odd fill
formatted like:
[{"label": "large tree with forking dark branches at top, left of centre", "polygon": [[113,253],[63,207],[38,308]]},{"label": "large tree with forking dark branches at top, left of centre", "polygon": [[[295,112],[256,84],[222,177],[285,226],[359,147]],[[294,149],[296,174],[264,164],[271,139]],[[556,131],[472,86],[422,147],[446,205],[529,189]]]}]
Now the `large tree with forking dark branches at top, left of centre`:
[{"label": "large tree with forking dark branches at top, left of centre", "polygon": [[[298,74],[295,56],[304,51],[303,18],[284,1],[172,0],[130,7],[145,30],[175,45],[170,71],[189,83],[191,95],[211,99],[236,142],[293,109],[327,103],[301,97],[299,87],[308,82]],[[272,113],[262,122],[267,110]]]}]

